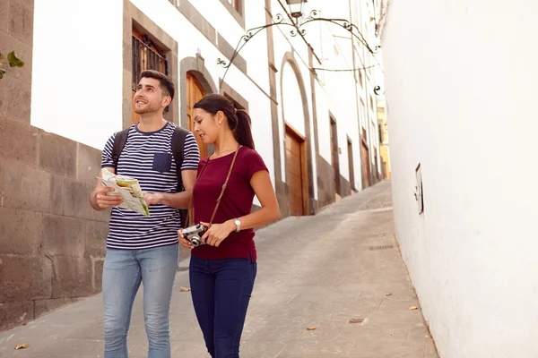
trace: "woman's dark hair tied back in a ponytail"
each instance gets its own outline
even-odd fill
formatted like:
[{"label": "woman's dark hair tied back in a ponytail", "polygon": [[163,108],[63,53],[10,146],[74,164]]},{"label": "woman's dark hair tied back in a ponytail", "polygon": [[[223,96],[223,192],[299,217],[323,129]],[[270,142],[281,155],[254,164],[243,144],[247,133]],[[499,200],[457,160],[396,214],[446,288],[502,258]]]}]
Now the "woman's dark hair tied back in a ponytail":
[{"label": "woman's dark hair tied back in a ponytail", "polygon": [[230,99],[221,95],[208,95],[200,99],[195,108],[204,109],[205,112],[216,115],[222,111],[228,118],[228,125],[233,132],[233,136],[239,144],[250,149],[254,149],[254,140],[252,139],[252,131],[250,125],[250,115],[244,109],[236,109]]}]

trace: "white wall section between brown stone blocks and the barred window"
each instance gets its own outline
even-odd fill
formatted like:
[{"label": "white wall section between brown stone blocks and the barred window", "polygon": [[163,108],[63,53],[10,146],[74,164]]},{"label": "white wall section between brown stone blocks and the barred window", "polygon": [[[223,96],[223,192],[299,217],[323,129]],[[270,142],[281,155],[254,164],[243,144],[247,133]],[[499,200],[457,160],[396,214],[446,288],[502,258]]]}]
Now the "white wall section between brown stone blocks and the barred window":
[{"label": "white wall section between brown stone blocks and the barred window", "polygon": [[121,130],[122,11],[121,1],[35,1],[32,125],[99,149]]}]

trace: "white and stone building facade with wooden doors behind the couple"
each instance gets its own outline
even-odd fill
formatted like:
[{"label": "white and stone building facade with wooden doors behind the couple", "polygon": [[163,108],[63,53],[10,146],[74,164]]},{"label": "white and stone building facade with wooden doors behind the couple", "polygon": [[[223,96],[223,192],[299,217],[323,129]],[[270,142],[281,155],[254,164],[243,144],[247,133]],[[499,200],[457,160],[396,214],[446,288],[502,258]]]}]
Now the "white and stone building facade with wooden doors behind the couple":
[{"label": "white and stone building facade with wooden doors behind the couple", "polygon": [[[311,0],[299,20],[351,19],[373,41],[369,6]],[[0,81],[0,329],[100,292],[108,212],[88,194],[105,141],[138,121],[144,69],[172,78],[167,119],[185,128],[207,94],[247,109],[282,217],[378,180],[373,57],[326,21],[270,26],[234,51],[279,19],[299,21],[283,0],[0,0],[0,49],[26,62]]]}]

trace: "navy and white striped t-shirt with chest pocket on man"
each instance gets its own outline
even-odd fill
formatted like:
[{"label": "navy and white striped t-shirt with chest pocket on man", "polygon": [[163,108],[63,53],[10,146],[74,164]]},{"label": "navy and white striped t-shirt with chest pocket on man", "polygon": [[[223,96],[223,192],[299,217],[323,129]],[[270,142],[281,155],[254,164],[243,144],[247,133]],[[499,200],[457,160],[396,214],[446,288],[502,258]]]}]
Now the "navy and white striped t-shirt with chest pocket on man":
[{"label": "navy and white striped t-shirt with chest pocket on man", "polygon": [[[172,154],[172,133],[176,124],[167,123],[157,132],[140,132],[137,124],[129,129],[124,149],[117,160],[117,174],[138,179],[143,192],[178,192],[176,161]],[[112,135],[103,150],[101,167],[114,167]],[[189,132],[183,149],[181,170],[196,170],[200,152]],[[151,205],[150,216],[132,210],[112,208],[107,247],[140,250],[178,243],[181,219],[178,209]]]}]

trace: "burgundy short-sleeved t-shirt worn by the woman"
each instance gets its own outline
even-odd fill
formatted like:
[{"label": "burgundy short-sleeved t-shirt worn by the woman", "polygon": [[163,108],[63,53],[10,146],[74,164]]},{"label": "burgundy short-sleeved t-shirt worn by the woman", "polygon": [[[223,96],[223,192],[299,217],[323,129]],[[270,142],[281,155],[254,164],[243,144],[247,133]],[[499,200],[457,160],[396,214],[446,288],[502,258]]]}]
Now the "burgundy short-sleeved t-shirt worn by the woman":
[{"label": "burgundy short-sleeved t-shirt worn by the woman", "polygon": [[[200,161],[198,181],[193,192],[195,223],[200,221],[209,223],[211,220],[234,154],[235,152],[221,158],[204,158]],[[206,162],[207,165],[200,175]],[[250,179],[260,170],[267,170],[264,159],[256,150],[245,146],[241,147],[221,204],[213,219],[213,224],[221,224],[234,217],[244,217],[250,214],[255,195],[252,186],[250,186]],[[221,242],[219,247],[201,245],[195,247],[192,253],[196,257],[206,260],[243,258],[256,261],[254,230],[241,230],[239,233],[234,231]]]}]

